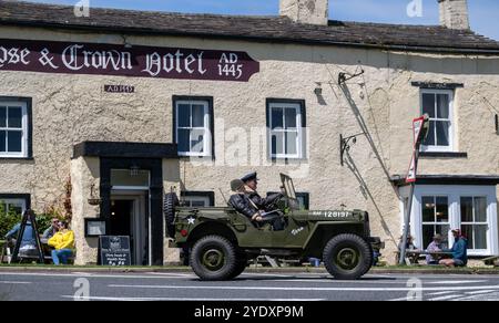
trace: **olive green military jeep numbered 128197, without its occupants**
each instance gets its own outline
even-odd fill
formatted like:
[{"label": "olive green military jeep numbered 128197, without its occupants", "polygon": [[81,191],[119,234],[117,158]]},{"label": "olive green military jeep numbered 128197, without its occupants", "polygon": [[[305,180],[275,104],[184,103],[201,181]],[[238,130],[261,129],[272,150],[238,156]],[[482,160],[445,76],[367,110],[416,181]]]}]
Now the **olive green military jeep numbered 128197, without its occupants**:
[{"label": "olive green military jeep numbered 128197, without its occupants", "polygon": [[[276,202],[285,229],[252,222],[234,208],[179,207],[167,194],[164,212],[172,247],[190,250],[190,263],[202,280],[231,280],[258,256],[322,259],[342,280],[359,279],[373,264],[369,218],[361,210],[302,210],[291,177],[281,174],[284,197]],[[275,212],[273,213],[275,216]]]}]

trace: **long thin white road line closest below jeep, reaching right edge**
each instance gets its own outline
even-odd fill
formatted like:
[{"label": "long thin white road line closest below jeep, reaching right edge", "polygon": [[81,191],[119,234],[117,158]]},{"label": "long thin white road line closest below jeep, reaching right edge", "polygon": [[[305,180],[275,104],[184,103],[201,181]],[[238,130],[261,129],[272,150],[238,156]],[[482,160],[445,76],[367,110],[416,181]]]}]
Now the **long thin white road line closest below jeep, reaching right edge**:
[{"label": "long thin white road line closest below jeep, reaching right edge", "polygon": [[491,286],[441,286],[441,288],[273,288],[273,286],[220,286],[220,285],[126,285],[109,284],[109,288],[130,289],[165,289],[165,290],[249,290],[249,291],[349,291],[349,292],[405,292],[405,291],[470,291],[470,290],[499,290],[499,285]]}]

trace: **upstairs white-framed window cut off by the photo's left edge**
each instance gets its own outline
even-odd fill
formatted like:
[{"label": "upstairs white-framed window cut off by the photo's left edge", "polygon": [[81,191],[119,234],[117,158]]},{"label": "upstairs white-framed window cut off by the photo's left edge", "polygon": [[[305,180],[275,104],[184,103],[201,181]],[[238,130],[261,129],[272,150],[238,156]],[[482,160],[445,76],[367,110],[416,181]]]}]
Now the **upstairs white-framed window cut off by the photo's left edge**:
[{"label": "upstairs white-framed window cut off by the photo's left edge", "polygon": [[0,101],[0,157],[28,157],[26,102]]}]

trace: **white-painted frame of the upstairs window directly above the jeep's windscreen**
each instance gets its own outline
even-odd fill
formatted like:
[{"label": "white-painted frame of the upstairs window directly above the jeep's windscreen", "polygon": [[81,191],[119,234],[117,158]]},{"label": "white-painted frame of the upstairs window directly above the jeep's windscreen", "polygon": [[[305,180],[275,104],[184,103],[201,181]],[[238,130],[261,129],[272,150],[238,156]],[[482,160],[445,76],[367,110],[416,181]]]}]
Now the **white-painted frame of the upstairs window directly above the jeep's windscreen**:
[{"label": "white-painted frame of the upstairs window directly above the jeep's windscreen", "polygon": [[[269,112],[268,112],[268,153],[269,157],[272,159],[301,159],[303,158],[303,116],[302,116],[302,105],[299,103],[279,103],[279,102],[273,102],[268,105]],[[273,129],[273,118],[272,118],[272,112],[275,108],[279,110],[286,110],[286,108],[293,108],[296,112],[296,131],[295,129],[286,129],[286,128],[277,128]],[[283,113],[283,125],[285,125],[285,114]],[[276,133],[297,133],[296,136],[296,154],[273,154],[272,153],[272,137]],[[277,149],[276,149],[277,152]]]}]

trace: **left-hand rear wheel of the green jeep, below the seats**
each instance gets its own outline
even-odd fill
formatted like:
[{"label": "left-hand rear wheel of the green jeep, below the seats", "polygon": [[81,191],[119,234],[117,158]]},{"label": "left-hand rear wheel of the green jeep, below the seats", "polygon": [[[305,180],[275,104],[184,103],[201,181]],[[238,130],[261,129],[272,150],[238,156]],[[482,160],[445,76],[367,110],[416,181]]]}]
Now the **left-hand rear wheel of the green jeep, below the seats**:
[{"label": "left-hand rear wheel of the green jeep, below the seats", "polygon": [[202,280],[230,280],[236,265],[234,244],[220,236],[200,239],[191,251],[191,267]]}]

